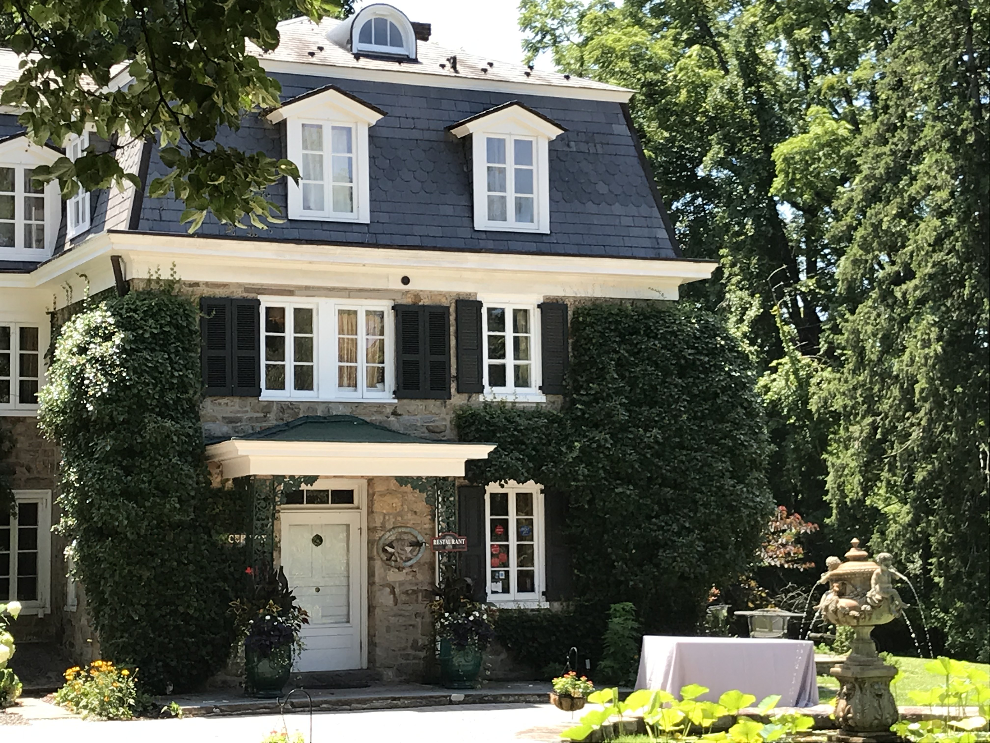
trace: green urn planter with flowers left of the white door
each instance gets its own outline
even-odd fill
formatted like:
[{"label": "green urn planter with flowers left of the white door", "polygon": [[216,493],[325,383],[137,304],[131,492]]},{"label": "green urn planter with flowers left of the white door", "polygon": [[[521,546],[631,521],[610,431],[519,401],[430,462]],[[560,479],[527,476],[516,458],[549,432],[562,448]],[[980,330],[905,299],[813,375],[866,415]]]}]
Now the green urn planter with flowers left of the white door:
[{"label": "green urn planter with flowers left of the white door", "polygon": [[292,664],[303,649],[306,610],[295,604],[285,573],[279,568],[248,568],[246,595],[231,604],[245,648],[245,692],[276,697],[289,681]]}]

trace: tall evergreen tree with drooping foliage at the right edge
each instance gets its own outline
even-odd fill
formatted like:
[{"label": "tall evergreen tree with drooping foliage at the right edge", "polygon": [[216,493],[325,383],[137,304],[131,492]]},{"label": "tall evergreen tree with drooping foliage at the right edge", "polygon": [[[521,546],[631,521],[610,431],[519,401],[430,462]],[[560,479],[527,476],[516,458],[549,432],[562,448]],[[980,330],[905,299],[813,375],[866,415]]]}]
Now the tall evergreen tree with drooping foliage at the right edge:
[{"label": "tall evergreen tree with drooping foliage at the right edge", "polygon": [[921,577],[951,652],[990,659],[990,45],[986,8],[901,0],[838,208],[840,521]]}]

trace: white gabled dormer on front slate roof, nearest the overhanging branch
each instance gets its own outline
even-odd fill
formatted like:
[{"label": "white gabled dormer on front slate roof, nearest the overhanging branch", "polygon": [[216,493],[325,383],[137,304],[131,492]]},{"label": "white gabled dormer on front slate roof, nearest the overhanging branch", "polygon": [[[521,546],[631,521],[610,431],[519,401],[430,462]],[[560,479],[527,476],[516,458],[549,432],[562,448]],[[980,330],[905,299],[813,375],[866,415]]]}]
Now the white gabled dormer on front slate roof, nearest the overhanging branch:
[{"label": "white gabled dormer on front slate roof, nearest the overhanging branch", "polygon": [[299,168],[288,181],[289,219],[370,221],[368,127],[385,112],[336,85],[286,101],[268,114],[285,122],[286,149]]}]

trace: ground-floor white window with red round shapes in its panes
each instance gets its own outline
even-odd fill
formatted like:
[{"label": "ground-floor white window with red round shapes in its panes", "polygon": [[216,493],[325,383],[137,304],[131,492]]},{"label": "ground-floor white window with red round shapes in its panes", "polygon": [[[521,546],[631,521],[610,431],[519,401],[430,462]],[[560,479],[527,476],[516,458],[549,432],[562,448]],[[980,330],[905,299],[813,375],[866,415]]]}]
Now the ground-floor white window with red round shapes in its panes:
[{"label": "ground-floor white window with red round shapes in its panes", "polygon": [[532,482],[509,487],[492,484],[485,503],[489,598],[539,600],[545,570],[540,487]]}]

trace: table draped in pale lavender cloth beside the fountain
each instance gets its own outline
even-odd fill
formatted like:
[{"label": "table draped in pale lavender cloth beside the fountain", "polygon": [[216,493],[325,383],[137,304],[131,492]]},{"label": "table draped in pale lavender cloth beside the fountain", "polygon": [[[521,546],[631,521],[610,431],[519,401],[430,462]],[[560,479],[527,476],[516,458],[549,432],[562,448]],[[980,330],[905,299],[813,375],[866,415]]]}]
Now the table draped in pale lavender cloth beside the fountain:
[{"label": "table draped in pale lavender cloth beside the fountain", "polygon": [[646,635],[636,688],[679,695],[688,684],[707,687],[710,691],[699,698],[713,701],[738,689],[757,700],[780,694],[778,706],[813,706],[818,703],[815,645],[805,640]]}]

